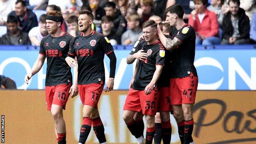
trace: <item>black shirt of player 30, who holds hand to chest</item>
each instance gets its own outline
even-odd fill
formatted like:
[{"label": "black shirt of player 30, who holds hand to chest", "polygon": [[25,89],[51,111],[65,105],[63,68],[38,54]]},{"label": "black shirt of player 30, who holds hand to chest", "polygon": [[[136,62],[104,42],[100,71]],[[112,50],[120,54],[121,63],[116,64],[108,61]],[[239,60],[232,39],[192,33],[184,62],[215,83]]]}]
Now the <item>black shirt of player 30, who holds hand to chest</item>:
[{"label": "black shirt of player 30, who holds hand to chest", "polygon": [[[144,90],[153,78],[156,70],[155,66],[158,64],[165,65],[165,50],[160,41],[147,45],[145,40],[141,40],[138,44],[135,43],[130,55],[137,53],[139,50],[144,50],[148,57],[145,61],[139,60],[132,88],[135,90]],[[158,85],[158,82],[155,85]]]}]

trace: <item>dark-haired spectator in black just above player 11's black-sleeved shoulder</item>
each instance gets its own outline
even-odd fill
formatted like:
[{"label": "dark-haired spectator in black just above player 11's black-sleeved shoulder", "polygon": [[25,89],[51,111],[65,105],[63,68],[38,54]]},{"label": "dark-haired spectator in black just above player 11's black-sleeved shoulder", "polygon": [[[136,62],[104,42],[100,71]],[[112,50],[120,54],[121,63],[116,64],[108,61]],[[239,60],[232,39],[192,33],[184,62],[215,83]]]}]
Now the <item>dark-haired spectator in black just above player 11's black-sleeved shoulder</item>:
[{"label": "dark-haired spectator in black just above player 11's black-sleeved shoulder", "polygon": [[120,44],[120,37],[115,34],[112,27],[114,26],[114,23],[111,20],[110,16],[103,16],[101,18],[101,28],[102,28],[102,34],[104,34],[107,39],[110,40],[111,45],[117,45]]}]

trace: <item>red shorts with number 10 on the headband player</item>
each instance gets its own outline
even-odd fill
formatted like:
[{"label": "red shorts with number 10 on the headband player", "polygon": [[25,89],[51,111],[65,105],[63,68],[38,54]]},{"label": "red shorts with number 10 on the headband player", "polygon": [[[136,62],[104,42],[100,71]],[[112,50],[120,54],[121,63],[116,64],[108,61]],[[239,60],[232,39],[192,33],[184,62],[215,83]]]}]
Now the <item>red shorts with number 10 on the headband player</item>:
[{"label": "red shorts with number 10 on the headband player", "polygon": [[60,84],[55,86],[46,86],[46,108],[51,110],[52,104],[62,106],[65,110],[66,103],[69,99],[69,90],[71,83]]}]

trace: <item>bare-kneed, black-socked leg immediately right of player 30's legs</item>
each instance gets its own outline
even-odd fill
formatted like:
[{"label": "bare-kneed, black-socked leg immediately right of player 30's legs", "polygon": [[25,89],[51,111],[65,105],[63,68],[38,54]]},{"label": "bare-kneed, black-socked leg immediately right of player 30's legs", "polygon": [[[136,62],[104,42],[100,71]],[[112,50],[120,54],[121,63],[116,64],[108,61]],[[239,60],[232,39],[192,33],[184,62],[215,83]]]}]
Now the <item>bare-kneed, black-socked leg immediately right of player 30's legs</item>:
[{"label": "bare-kneed, black-socked leg immediately right of player 30's legs", "polygon": [[162,141],[162,124],[160,119],[160,113],[155,114],[155,135],[154,142],[155,144],[161,144]]}]

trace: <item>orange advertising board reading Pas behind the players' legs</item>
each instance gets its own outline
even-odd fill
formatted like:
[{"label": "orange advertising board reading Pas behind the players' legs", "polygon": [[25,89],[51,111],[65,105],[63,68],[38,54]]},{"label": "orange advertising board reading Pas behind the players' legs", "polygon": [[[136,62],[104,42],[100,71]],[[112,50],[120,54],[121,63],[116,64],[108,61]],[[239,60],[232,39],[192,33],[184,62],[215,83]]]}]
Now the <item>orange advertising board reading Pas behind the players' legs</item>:
[{"label": "orange advertising board reading Pas behind the players' legs", "polygon": [[[137,144],[122,119],[127,92],[104,91],[98,103],[108,144]],[[192,134],[195,144],[255,144],[255,96],[256,91],[198,91]],[[53,118],[46,110],[45,91],[0,91],[0,114],[2,139],[6,144],[56,143]],[[64,119],[67,144],[77,144],[82,124],[79,96],[69,98]],[[180,144],[172,115],[171,125],[171,144]],[[97,143],[91,130],[87,144]]]}]

